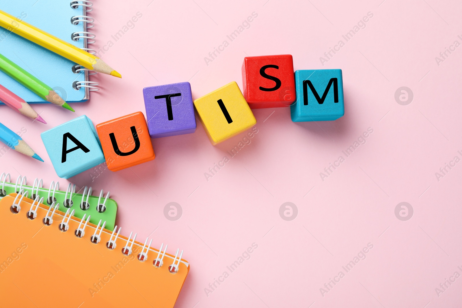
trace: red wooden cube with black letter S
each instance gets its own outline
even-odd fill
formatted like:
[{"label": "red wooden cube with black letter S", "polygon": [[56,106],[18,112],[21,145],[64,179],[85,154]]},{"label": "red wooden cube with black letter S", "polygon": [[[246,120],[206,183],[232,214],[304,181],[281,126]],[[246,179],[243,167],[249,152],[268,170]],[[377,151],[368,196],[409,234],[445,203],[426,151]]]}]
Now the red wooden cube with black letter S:
[{"label": "red wooden cube with black letter S", "polygon": [[242,83],[252,109],[290,106],[295,101],[292,55],[245,57]]}]

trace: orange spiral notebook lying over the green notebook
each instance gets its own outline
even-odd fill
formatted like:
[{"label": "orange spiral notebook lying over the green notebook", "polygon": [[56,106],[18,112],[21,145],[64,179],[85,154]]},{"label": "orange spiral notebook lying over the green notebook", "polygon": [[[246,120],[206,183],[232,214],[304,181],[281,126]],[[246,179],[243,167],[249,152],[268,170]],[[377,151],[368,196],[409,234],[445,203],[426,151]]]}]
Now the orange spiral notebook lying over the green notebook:
[{"label": "orange spiral notebook lying over the green notebook", "polygon": [[16,193],[0,200],[1,307],[175,305],[189,271],[178,250],[33,202]]}]

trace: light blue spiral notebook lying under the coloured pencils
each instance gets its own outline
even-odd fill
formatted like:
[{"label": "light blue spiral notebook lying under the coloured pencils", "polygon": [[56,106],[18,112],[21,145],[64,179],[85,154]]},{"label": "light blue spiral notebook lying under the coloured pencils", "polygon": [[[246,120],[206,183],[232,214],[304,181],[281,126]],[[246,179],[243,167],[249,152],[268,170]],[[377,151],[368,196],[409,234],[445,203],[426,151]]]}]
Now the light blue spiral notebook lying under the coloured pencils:
[{"label": "light blue spiral notebook lying under the coloured pencils", "polygon": [[[79,48],[94,42],[90,1],[0,0],[0,9]],[[80,36],[80,37],[78,37]],[[90,50],[91,51],[91,50]],[[97,83],[84,67],[0,27],[0,53],[53,88],[69,103],[84,102]],[[49,103],[0,71],[0,84],[28,103]]]}]

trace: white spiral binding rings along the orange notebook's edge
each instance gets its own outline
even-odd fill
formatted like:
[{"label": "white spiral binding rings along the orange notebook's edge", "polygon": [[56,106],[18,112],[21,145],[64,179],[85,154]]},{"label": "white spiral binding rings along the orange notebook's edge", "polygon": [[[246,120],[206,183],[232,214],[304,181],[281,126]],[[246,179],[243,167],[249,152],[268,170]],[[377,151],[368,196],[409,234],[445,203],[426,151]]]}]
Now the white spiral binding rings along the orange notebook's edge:
[{"label": "white spiral binding rings along the orange notebook's edge", "polygon": [[[0,181],[4,176],[5,176],[4,174],[0,175]],[[6,181],[6,176],[5,176],[5,181]],[[14,201],[13,201],[13,203],[11,205],[11,211],[12,211],[13,214],[18,214],[19,211],[21,211],[21,206],[20,206],[21,202],[23,201],[24,197],[27,198],[28,194],[29,194],[29,192],[24,191],[24,188],[20,189],[19,193],[16,195],[16,197],[14,198]],[[38,209],[39,205],[43,201],[43,198],[41,198],[39,200],[38,197],[39,196],[37,195],[35,200],[32,202],[32,204],[30,206],[30,210],[27,211],[27,217],[30,220],[36,219],[36,217],[37,217],[37,209]],[[34,209],[34,205],[36,205],[35,209]],[[56,212],[56,210],[58,208],[59,208],[59,204],[56,203],[56,202],[53,202],[53,204],[49,206],[48,211],[47,211],[45,217],[43,218],[43,224],[44,225],[50,226],[53,223],[53,216],[55,215],[55,212]],[[71,220],[71,218],[76,218],[76,217],[73,217],[74,210],[72,210],[70,214],[69,214],[69,211],[70,211],[70,208],[67,209],[66,214],[64,214],[61,223],[58,225],[58,229],[60,229],[62,232],[66,232],[69,229],[69,220]],[[69,216],[67,216],[67,215],[69,215]],[[80,220],[79,226],[77,227],[77,229],[75,229],[74,234],[77,237],[85,236],[85,228],[87,227],[87,224],[90,221],[90,215],[87,217],[86,220],[85,220],[85,216],[86,216],[86,214],[84,214],[84,216]],[[66,219],[66,217],[67,217],[67,219]],[[84,223],[84,220],[85,220],[85,223]],[[74,220],[74,221],[78,222],[78,220]],[[106,222],[104,221],[103,225],[101,225],[101,222],[102,222],[102,220],[100,219],[96,228],[91,227],[91,226],[88,227],[88,228],[94,228],[95,229],[95,232],[93,233],[93,235],[90,236],[90,241],[92,243],[94,243],[94,244],[98,244],[101,241],[101,234],[103,232],[109,235],[109,233],[107,231],[104,231],[104,226],[106,225]],[[82,226],[82,224],[83,224],[83,226]],[[101,225],[101,229],[100,229],[100,225]],[[99,232],[98,232],[98,229],[99,229]],[[109,241],[106,243],[106,247],[108,249],[112,250],[112,249],[116,248],[116,241],[117,241],[117,238],[119,237],[121,229],[122,228],[119,228],[114,240],[112,238],[114,236],[114,233],[117,230],[117,226],[114,228],[114,231],[112,231],[111,237],[109,238]],[[132,235],[133,235],[133,232],[130,232],[130,236],[128,237],[127,243],[125,244],[125,247],[122,248],[122,254],[130,255],[132,253],[132,248],[133,248],[133,245],[134,245],[135,238],[136,238],[137,234],[135,233],[135,236],[133,237],[133,240],[130,243],[130,239],[131,239]],[[143,246],[136,243],[136,246],[141,248],[141,252],[140,252],[140,254],[138,254],[138,260],[140,260],[141,262],[144,262],[144,261],[146,261],[148,259],[148,252],[150,250],[155,252],[155,250],[151,248],[152,239],[149,242],[149,245],[146,246],[146,243],[147,243],[148,240],[149,240],[149,236],[146,237],[146,241],[145,241]],[[169,245],[165,245],[164,252],[162,252],[162,248],[164,247],[164,243],[162,243],[162,245],[160,246],[160,249],[158,250],[157,258],[155,258],[152,261],[152,265],[154,267],[163,266],[165,252],[167,251],[168,246]],[[146,248],[146,251],[145,251],[145,248]],[[173,258],[173,263],[168,267],[169,272],[172,273],[172,274],[176,274],[178,272],[179,267],[180,267],[180,262],[182,262],[186,266],[188,266],[187,262],[181,260],[181,258],[183,256],[183,250],[181,251],[180,255],[178,256],[179,250],[180,250],[179,248],[176,249],[175,257]],[[171,258],[171,257],[169,256],[169,258]]]}]

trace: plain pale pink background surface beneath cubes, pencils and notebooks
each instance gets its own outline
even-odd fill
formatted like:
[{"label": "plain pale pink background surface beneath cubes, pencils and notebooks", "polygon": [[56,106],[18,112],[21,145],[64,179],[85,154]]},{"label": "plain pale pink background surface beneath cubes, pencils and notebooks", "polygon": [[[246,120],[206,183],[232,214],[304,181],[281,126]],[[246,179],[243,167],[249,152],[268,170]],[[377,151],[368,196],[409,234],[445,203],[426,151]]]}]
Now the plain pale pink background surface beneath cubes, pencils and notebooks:
[{"label": "plain pale pink background surface beneath cubes, pencils and notebooks", "polygon": [[[242,90],[247,55],[292,54],[295,70],[341,68],[345,116],[296,124],[289,108],[254,110],[258,133],[209,181],[204,173],[243,135],[213,146],[198,123],[194,134],[153,139],[152,162],[104,170],[93,182],[88,170],[71,182],[109,189],[124,235],[134,230],[144,241],[155,230],[154,247],[184,249],[191,270],[176,307],[460,307],[462,278],[439,296],[435,288],[462,274],[462,163],[439,181],[435,172],[462,158],[462,47],[439,66],[435,57],[462,43],[462,4],[403,2],[95,0],[99,48],[142,13],[102,54],[123,79],[98,74],[102,91],[73,104],[75,114],[35,105],[48,125],[2,106],[1,121],[15,131],[25,127],[24,139],[46,162],[8,151],[1,169],[15,179],[27,175],[29,183],[43,177],[48,186],[57,175],[41,132],[79,115],[96,125],[145,113],[146,86],[189,81],[193,98],[231,81]],[[258,17],[250,28],[207,66],[204,57],[252,12]],[[368,12],[365,29],[322,66],[319,57],[345,42],[342,35]],[[394,98],[401,86],[414,94],[407,106]],[[368,127],[366,143],[322,181],[319,173]],[[172,201],[182,206],[177,221],[163,214]],[[408,221],[395,217],[403,201],[414,210]],[[279,215],[284,202],[298,207],[292,221]],[[254,242],[251,258],[207,296],[204,288]],[[368,243],[366,259],[346,273],[342,266]],[[322,296],[320,288],[340,271],[345,277]]]}]

